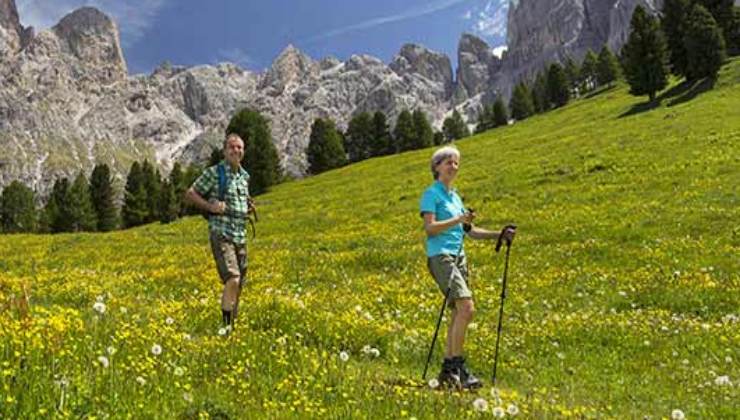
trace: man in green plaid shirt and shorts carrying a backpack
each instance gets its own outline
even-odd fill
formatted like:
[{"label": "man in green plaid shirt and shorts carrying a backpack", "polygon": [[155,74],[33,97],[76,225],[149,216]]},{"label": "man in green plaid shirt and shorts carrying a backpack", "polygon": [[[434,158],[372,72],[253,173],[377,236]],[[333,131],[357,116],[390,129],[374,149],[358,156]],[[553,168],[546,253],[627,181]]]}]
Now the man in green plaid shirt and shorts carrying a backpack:
[{"label": "man in green plaid shirt and shorts carrying a backpack", "polygon": [[246,222],[251,200],[249,174],[240,164],[244,141],[237,134],[229,134],[223,153],[224,160],[206,169],[185,194],[189,202],[209,213],[211,251],[224,285],[223,322],[230,330],[247,271]]}]

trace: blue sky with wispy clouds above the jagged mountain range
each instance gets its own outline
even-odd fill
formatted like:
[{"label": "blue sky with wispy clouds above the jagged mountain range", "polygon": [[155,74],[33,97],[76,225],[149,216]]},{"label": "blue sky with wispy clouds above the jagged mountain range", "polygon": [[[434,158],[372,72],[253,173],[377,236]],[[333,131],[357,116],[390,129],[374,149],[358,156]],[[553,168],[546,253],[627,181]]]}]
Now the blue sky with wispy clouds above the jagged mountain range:
[{"label": "blue sky with wispy clouds above the jagged mountain range", "polygon": [[456,61],[460,35],[505,44],[507,0],[16,0],[37,31],[77,7],[97,7],[121,32],[130,73],[173,64],[235,62],[262,71],[288,44],[320,59],[370,54],[385,62],[407,42]]}]

